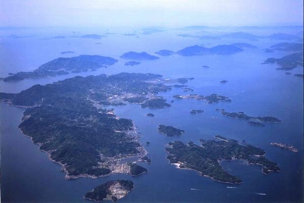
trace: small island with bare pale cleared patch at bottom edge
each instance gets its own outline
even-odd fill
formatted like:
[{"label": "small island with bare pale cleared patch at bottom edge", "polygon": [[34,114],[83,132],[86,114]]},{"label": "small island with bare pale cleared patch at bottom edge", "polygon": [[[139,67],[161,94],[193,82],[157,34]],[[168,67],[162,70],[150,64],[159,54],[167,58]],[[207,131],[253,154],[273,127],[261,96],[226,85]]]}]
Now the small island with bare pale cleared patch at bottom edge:
[{"label": "small island with bare pale cleared patch at bottom edge", "polygon": [[111,199],[113,202],[125,197],[133,190],[133,182],[130,180],[108,181],[94,188],[93,191],[87,192],[84,198],[94,201]]}]

